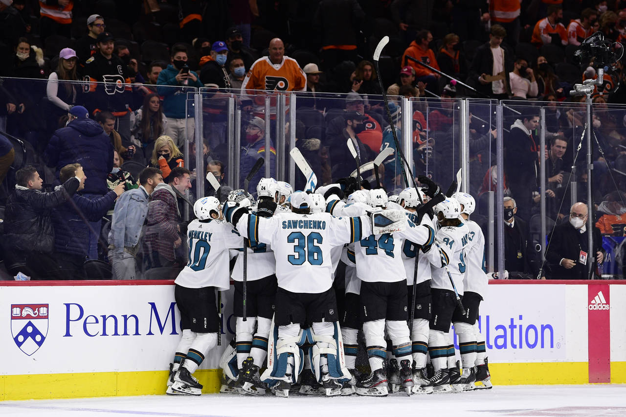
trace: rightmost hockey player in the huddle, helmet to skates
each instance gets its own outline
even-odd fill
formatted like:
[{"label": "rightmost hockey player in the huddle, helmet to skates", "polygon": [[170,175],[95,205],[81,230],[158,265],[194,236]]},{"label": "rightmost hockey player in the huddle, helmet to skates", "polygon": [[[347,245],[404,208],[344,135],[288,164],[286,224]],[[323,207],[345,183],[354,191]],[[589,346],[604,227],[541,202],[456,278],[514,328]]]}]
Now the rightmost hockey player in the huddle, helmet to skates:
[{"label": "rightmost hockey player in the huddle, helmet to skates", "polygon": [[[491,388],[490,376],[485,362],[485,339],[482,338],[481,340],[480,359],[478,358],[476,342],[480,335],[478,307],[486,294],[489,281],[485,266],[485,236],[480,226],[473,220],[469,220],[469,215],[474,212],[476,207],[474,197],[468,193],[460,192],[454,193],[452,197],[461,204],[461,217],[469,229],[469,249],[465,254],[467,269],[463,280],[463,307],[466,314],[463,316],[459,309],[456,309],[452,317],[454,331],[459,338],[463,373],[456,384],[452,385],[452,388],[456,391],[469,391],[475,386],[476,388]],[[480,368],[474,368],[475,366]],[[481,369],[481,381],[483,382],[475,385],[476,369]]]}]

